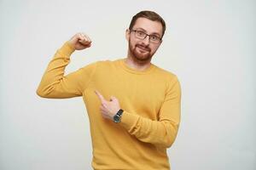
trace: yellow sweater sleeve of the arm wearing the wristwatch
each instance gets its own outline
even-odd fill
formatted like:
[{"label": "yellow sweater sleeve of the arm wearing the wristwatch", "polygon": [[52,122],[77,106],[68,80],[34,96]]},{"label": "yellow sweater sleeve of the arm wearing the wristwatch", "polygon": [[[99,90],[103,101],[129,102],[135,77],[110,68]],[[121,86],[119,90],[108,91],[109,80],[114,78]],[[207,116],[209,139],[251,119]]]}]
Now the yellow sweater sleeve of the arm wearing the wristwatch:
[{"label": "yellow sweater sleeve of the arm wearing the wristwatch", "polygon": [[157,121],[124,111],[120,125],[143,142],[169,148],[177,136],[180,107],[181,88],[175,77],[166,90]]}]

